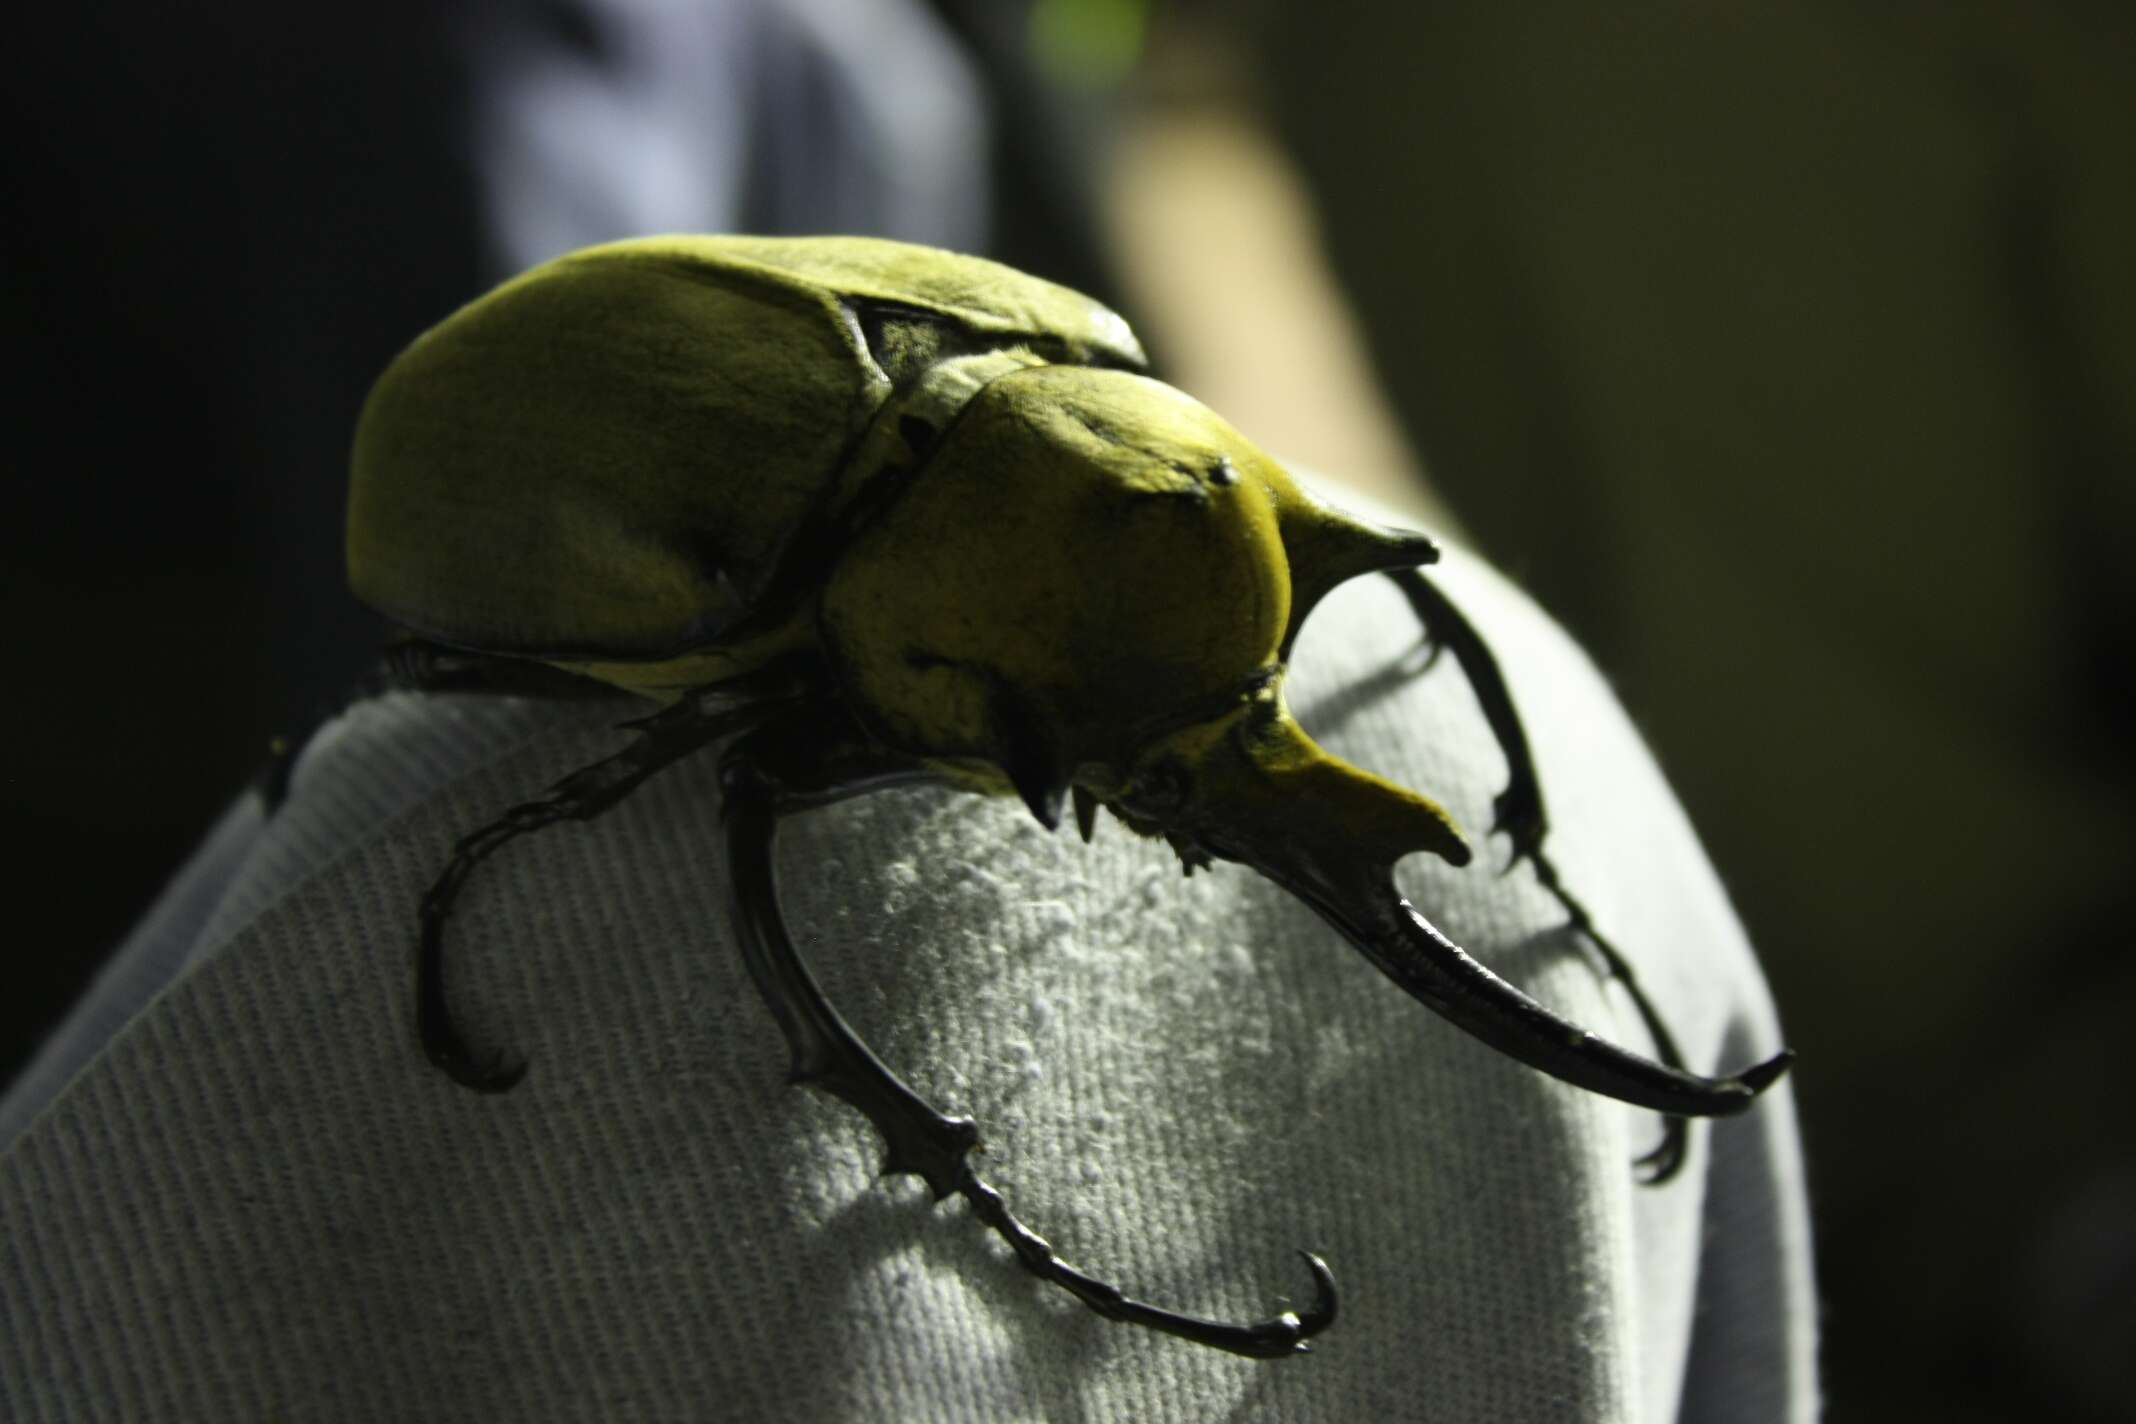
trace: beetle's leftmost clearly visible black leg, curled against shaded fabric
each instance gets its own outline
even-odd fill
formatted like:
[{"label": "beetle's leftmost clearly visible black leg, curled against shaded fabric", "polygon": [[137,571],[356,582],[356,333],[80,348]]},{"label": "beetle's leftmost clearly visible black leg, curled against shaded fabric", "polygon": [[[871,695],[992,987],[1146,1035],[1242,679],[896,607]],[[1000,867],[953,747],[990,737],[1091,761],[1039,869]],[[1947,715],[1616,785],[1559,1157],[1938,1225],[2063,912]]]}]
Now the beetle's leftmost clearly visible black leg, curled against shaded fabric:
[{"label": "beetle's leftmost clearly visible black leg, curled against shaded fabric", "polygon": [[453,901],[459,899],[474,867],[528,830],[600,816],[662,766],[790,705],[795,696],[790,687],[790,679],[782,673],[737,679],[628,722],[624,726],[639,737],[622,751],[570,773],[540,801],[513,807],[453,845],[453,858],[423,897],[423,929],[417,942],[417,1029],[431,1063],[478,1093],[511,1091],[525,1076],[521,1059],[500,1053],[478,1057],[468,1048],[444,997],[444,920],[453,914]]}]

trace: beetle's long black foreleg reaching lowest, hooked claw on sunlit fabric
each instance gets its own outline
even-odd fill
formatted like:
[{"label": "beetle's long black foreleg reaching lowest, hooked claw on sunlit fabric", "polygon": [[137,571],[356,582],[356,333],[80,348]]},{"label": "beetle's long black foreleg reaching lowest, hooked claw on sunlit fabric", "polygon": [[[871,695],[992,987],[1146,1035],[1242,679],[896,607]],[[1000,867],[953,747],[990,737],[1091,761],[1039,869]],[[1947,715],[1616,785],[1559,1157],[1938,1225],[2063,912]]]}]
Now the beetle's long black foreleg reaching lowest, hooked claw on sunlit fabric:
[{"label": "beetle's long black foreleg reaching lowest, hooked claw on sunlit fabric", "polygon": [[[737,741],[726,751],[720,781],[735,935],[750,978],[792,1048],[790,1080],[835,1093],[867,1114],[889,1144],[884,1174],[912,1172],[936,1200],[961,1193],[972,1204],[972,1215],[1015,1249],[1025,1270],[1059,1285],[1098,1315],[1258,1360],[1303,1351],[1307,1339],[1335,1322],[1335,1277],[1318,1255],[1305,1253],[1314,1275],[1314,1304],[1303,1315],[1284,1311],[1247,1326],[1179,1315],[1130,1300],[1119,1287],[1064,1262],[1042,1236],[1010,1215],[1000,1191],[972,1172],[970,1153],[978,1144],[978,1125],[968,1117],[940,1112],[861,1042],[816,984],[786,933],[778,903],[773,839],[784,809],[822,805],[891,779],[912,779],[914,773],[857,775],[842,786],[816,764],[803,771],[803,786],[790,786],[769,771],[769,764],[790,760],[782,756],[782,743],[797,745],[792,728],[765,728]],[[833,760],[835,756],[839,754]]]}]

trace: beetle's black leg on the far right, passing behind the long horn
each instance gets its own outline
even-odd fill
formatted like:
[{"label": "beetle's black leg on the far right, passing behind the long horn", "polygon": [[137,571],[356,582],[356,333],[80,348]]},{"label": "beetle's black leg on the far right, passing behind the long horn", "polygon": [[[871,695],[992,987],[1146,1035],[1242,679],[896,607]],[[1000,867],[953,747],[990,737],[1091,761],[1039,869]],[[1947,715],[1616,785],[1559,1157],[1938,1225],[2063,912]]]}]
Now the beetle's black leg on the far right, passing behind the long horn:
[{"label": "beetle's black leg on the far right, passing behind the long horn", "polygon": [[[1506,758],[1506,790],[1499,792],[1493,803],[1497,816],[1495,830],[1504,830],[1512,837],[1512,858],[1506,860],[1510,871],[1523,858],[1536,867],[1536,880],[1549,890],[1564,912],[1572,918],[1572,929],[1585,937],[1608,971],[1625,986],[1632,995],[1632,1003],[1638,1008],[1640,1020],[1647,1025],[1647,1033],[1653,1038],[1653,1057],[1666,1067],[1683,1070],[1683,1055],[1677,1050],[1677,1038],[1668,1031],[1662,1020],[1660,1010],[1647,999],[1647,991],[1640,988],[1638,978],[1632,974],[1630,961],[1617,952],[1602,931],[1596,929],[1593,918],[1587,914],[1574,895],[1559,882],[1557,865],[1542,852],[1542,839],[1549,835],[1551,820],[1542,807],[1542,781],[1536,777],[1536,758],[1527,749],[1527,730],[1521,726],[1521,713],[1512,707],[1512,690],[1506,687],[1506,673],[1497,666],[1497,658],[1491,655],[1491,647],[1476,632],[1476,626],[1467,621],[1461,608],[1455,606],[1438,585],[1425,579],[1414,568],[1393,570],[1388,574],[1395,585],[1408,596],[1410,608],[1425,626],[1425,636],[1431,640],[1433,658],[1438,649],[1450,649],[1455,662],[1461,664],[1461,673],[1467,677],[1470,687],[1476,694],[1476,702],[1482,707],[1485,722],[1491,724],[1491,734],[1497,739],[1499,751]],[[1683,1170],[1683,1151],[1687,1138],[1687,1123],[1677,1114],[1662,1114],[1662,1142],[1640,1157],[1634,1166],[1640,1170],[1640,1181],[1649,1187],[1660,1187]]]}]

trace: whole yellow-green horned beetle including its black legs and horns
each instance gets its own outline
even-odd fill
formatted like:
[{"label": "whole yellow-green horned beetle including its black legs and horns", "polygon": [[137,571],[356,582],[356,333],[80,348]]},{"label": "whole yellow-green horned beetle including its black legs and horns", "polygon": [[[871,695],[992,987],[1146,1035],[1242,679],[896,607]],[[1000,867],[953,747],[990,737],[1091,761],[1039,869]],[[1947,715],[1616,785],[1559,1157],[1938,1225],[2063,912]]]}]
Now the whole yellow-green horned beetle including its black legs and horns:
[{"label": "whole yellow-green horned beetle including its black legs and horns", "polygon": [[[468,835],[425,897],[419,1027],[459,1082],[478,1059],[442,993],[442,929],[511,837],[598,816],[718,747],[728,903],[795,1078],[861,1108],[889,1168],[961,1193],[1091,1309],[1275,1358],[1335,1317],[1237,1326],[1126,1298],[1062,1262],[970,1166],[976,1127],[886,1070],[818,991],[771,871],[782,813],[893,784],[1072,798],[1299,895],[1410,995],[1551,1076],[1681,1119],[1739,1112],[1788,1055],[1683,1070],[1621,954],[1542,854],[1542,796],[1489,649],[1418,572],[1423,534],[1305,495],[1215,412],[1143,374],[1128,325],[995,263],[827,237],[656,237],[577,252],[419,337],[355,444],[348,566],[414,643],[419,685],[619,687],[658,711],[615,756]],[[1660,1061],[1482,969],[1393,884],[1470,848],[1431,801],[1329,756],[1284,707],[1301,623],[1346,579],[1393,576],[1478,692],[1512,777],[1497,830],[1632,988]]]}]

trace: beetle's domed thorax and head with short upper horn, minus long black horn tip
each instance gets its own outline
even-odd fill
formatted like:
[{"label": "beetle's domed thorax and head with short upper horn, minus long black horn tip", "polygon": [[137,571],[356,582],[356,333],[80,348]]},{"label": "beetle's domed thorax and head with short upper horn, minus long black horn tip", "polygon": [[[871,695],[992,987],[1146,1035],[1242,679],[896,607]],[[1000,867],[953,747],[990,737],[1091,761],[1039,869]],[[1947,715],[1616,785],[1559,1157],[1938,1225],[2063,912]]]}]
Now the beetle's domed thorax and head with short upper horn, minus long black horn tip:
[{"label": "beetle's domed thorax and head with short upper horn, minus long black horn tip", "polygon": [[1435,805],[1316,747],[1284,658],[1331,587],[1435,557],[1309,500],[1162,382],[1038,365],[987,384],[850,544],[824,640],[876,734],[1051,828],[1070,786],[1267,869],[1303,820],[1388,860],[1467,845]]}]

